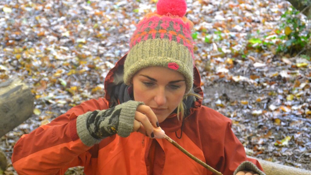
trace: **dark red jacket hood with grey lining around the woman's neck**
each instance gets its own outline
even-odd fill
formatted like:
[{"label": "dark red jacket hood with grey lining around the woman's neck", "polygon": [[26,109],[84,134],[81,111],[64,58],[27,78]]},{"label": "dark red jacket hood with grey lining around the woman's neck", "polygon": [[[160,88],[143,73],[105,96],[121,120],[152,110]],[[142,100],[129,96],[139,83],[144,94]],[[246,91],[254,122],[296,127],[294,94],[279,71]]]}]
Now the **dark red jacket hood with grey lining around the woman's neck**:
[{"label": "dark red jacket hood with grey lining around the woman's neck", "polygon": [[[126,56],[127,54],[125,54],[121,59],[117,61],[115,66],[109,70],[105,78],[105,99],[109,102],[109,107],[118,105],[128,100],[132,100],[130,96],[130,94],[132,93],[132,88],[125,85],[123,81],[123,68]],[[193,67],[193,74],[193,92],[203,97],[203,91],[201,88],[201,76],[197,67],[195,66]],[[190,116],[196,109],[201,107],[202,100],[196,99],[194,97],[190,98],[190,100],[188,98],[185,104],[188,110],[188,115],[185,115],[184,120],[187,120],[188,116]],[[171,114],[167,119],[165,119],[165,121],[160,123],[160,127],[165,132],[174,132],[178,130],[183,122],[180,122],[176,116],[176,113]]]}]

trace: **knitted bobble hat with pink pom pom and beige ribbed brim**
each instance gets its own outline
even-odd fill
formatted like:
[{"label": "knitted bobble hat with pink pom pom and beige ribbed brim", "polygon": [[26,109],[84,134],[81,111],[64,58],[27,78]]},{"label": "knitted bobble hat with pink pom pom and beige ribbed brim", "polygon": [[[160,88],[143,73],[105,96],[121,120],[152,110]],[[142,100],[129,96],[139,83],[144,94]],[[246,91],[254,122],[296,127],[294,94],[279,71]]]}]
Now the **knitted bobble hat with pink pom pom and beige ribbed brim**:
[{"label": "knitted bobble hat with pink pom pom and beige ribbed brim", "polygon": [[185,0],[159,0],[156,12],[148,13],[137,24],[124,62],[124,82],[150,66],[163,66],[182,73],[186,94],[193,86],[193,23],[184,15]]}]

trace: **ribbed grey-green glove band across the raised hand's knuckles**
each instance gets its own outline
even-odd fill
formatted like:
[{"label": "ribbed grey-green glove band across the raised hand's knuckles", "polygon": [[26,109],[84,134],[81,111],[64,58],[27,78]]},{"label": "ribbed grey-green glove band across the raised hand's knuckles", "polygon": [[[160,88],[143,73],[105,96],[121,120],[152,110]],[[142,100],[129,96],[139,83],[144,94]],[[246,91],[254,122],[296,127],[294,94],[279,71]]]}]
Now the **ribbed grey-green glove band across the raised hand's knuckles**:
[{"label": "ribbed grey-green glove band across the raised hand's knuckles", "polygon": [[131,134],[134,127],[134,117],[138,105],[144,104],[143,102],[128,101],[122,103],[122,109],[119,116],[118,135],[127,137]]}]

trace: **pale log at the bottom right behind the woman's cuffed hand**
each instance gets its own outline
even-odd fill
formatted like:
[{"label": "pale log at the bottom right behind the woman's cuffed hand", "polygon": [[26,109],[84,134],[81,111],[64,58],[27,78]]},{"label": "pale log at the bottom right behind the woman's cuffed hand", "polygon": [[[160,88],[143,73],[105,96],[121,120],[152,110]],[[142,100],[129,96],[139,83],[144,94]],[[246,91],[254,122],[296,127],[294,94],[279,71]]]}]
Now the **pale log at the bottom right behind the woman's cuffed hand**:
[{"label": "pale log at the bottom right behind the woman's cuffed hand", "polygon": [[[254,158],[251,156],[247,156],[247,157]],[[262,160],[260,158],[254,158],[254,159],[257,159],[259,161],[266,175],[293,175],[293,174],[310,175],[311,174],[311,171],[308,171],[308,170],[281,165],[281,164],[273,163],[267,160]]]}]

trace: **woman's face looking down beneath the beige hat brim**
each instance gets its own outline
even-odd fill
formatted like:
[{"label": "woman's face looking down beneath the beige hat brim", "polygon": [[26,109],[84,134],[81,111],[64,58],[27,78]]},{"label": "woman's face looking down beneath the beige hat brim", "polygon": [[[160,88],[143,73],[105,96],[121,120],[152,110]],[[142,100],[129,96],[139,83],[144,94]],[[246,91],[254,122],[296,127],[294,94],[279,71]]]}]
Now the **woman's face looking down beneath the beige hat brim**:
[{"label": "woman's face looking down beneath the beige hat brim", "polygon": [[177,108],[186,90],[182,73],[160,66],[141,69],[132,83],[135,101],[151,107],[159,123]]}]

